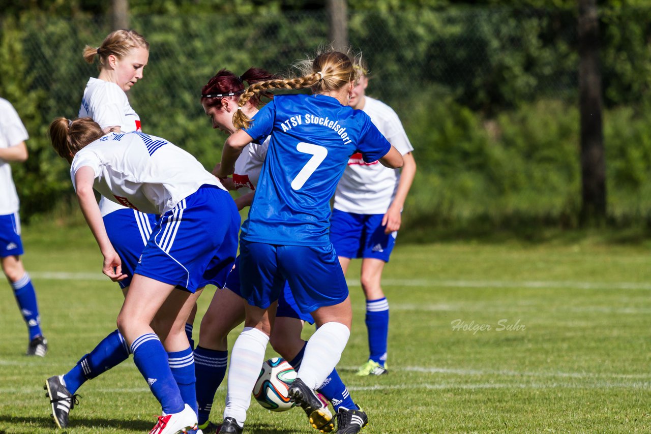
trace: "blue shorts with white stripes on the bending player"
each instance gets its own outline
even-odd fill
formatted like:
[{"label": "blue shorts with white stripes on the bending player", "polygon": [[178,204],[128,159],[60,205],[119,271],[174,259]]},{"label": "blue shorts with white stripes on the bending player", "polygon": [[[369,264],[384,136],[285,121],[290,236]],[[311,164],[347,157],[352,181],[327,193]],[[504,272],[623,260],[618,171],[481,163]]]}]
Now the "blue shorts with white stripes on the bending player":
[{"label": "blue shorts with white stripes on the bending player", "polygon": [[135,273],[196,292],[223,288],[238,249],[240,213],[227,191],[203,185],[161,216]]}]

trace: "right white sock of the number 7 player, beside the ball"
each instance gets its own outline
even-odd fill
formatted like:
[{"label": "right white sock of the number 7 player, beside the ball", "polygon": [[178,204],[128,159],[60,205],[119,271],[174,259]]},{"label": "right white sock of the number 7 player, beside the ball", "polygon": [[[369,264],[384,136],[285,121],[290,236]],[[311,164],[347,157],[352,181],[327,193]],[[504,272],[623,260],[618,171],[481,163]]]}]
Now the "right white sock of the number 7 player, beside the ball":
[{"label": "right white sock of the number 7 player, beside the ball", "polygon": [[320,387],[339,363],[349,337],[350,330],[342,323],[319,327],[307,341],[297,377],[312,389]]}]

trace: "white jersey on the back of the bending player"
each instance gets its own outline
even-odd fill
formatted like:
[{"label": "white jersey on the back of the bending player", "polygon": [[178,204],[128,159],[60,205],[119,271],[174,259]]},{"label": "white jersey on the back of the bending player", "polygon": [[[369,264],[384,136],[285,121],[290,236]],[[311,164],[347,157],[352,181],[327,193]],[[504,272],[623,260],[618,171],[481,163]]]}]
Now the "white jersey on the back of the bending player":
[{"label": "white jersey on the back of the bending player", "polygon": [[85,166],[94,170],[93,187],[104,197],[144,213],[163,214],[204,184],[225,190],[195,157],[138,131],[109,133],[77,152],[70,167],[73,185]]}]

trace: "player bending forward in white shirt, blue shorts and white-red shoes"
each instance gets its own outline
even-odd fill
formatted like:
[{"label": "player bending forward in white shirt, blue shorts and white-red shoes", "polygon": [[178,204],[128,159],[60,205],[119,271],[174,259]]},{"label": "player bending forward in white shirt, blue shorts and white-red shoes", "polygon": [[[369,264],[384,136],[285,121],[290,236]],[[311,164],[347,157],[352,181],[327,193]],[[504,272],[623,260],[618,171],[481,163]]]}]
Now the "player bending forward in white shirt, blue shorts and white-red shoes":
[{"label": "player bending forward in white shirt, blue shorts and white-red shoes", "polygon": [[168,358],[170,352],[190,351],[181,361],[193,365],[186,319],[202,288],[223,286],[232,268],[240,224],[237,208],[199,161],[160,137],[139,131],[105,135],[90,118],[57,118],[49,135],[57,154],[71,164],[79,206],[104,256],[103,272],[111,280],[123,278],[122,261],[107,236],[93,189],[135,210],[161,215],[117,324],[161,403],[163,416],[152,433],[196,429],[197,414],[184,403]]}]

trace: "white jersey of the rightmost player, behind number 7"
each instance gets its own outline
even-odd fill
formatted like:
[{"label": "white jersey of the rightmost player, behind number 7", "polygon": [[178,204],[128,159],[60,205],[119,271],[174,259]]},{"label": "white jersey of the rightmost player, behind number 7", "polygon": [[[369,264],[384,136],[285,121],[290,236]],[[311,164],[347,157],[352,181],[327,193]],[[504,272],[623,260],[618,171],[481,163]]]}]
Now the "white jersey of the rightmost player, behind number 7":
[{"label": "white jersey of the rightmost player, behind number 7", "polygon": [[[413,151],[402,123],[391,107],[366,96],[362,110],[400,154]],[[380,161],[365,163],[361,154],[353,154],[337,185],[334,208],[355,214],[384,214],[395,197],[399,180],[400,170],[385,167]]]}]

